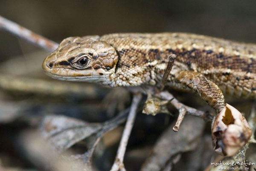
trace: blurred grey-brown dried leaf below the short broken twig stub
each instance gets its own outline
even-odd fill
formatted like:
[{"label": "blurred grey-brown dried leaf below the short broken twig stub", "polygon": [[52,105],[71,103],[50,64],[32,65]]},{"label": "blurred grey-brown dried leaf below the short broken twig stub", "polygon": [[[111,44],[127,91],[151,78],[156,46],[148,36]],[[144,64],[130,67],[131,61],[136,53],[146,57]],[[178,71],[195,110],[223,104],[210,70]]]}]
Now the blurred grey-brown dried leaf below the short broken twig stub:
[{"label": "blurred grey-brown dried leaf below the short broken twig stub", "polygon": [[176,154],[197,147],[204,130],[203,119],[186,116],[178,132],[172,130],[173,126],[170,125],[161,135],[141,171],[160,171]]}]

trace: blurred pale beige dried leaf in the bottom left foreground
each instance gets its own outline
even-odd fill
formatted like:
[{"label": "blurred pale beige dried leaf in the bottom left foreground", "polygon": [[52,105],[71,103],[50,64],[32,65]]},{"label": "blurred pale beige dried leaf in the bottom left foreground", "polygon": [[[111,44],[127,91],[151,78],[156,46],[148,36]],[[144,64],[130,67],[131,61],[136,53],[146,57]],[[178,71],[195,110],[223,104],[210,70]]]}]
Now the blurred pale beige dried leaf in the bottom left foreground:
[{"label": "blurred pale beige dried leaf in the bottom left foreground", "polygon": [[72,155],[65,151],[61,155],[52,153],[52,148],[41,137],[39,132],[25,132],[21,137],[21,144],[27,158],[35,165],[37,170],[51,171],[92,171],[89,165],[83,162],[83,155]]}]

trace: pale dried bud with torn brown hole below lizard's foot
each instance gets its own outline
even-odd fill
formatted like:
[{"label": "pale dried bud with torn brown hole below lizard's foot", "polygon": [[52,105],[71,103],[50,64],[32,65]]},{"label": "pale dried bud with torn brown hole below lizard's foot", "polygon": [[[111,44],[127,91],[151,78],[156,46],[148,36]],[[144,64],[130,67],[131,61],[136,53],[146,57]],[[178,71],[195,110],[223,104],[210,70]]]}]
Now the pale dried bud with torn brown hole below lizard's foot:
[{"label": "pale dried bud with torn brown hole below lizard's foot", "polygon": [[233,106],[225,104],[212,126],[212,145],[216,153],[233,156],[244,146],[252,131],[244,116]]}]

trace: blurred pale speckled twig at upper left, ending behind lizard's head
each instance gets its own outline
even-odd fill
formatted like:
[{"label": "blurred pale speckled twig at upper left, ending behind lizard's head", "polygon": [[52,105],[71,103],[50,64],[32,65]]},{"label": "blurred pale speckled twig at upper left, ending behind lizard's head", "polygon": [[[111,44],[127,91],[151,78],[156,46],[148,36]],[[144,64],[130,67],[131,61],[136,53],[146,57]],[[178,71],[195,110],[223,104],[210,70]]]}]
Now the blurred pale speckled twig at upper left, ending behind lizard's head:
[{"label": "blurred pale speckled twig at upper left, ending behind lizard's head", "polygon": [[48,51],[54,51],[58,47],[58,43],[53,42],[39,34],[35,34],[27,28],[24,28],[17,23],[14,23],[0,16],[0,29],[4,29],[16,36],[29,41]]}]

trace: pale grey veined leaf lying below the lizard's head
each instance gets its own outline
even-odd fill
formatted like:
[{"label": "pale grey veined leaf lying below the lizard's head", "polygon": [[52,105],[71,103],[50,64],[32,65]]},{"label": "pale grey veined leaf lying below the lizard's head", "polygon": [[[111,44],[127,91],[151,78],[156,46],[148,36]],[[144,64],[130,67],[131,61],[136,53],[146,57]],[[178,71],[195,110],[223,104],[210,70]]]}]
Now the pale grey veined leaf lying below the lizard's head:
[{"label": "pale grey veined leaf lying below the lizard's head", "polygon": [[44,118],[41,131],[58,151],[63,151],[102,128],[99,123],[87,123],[74,118],[50,115]]}]

